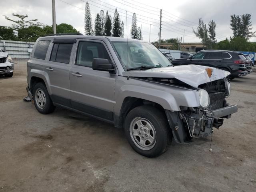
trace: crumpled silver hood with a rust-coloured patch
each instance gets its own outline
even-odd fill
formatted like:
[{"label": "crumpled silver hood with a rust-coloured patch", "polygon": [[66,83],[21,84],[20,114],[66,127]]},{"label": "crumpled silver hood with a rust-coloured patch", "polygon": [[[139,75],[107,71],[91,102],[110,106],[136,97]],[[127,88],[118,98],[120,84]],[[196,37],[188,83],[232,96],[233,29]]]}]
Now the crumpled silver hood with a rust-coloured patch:
[{"label": "crumpled silver hood with a rust-coloured patch", "polygon": [[[211,77],[208,76],[206,68],[212,69]],[[176,78],[194,88],[198,88],[199,85],[204,83],[225,78],[228,75],[230,75],[230,72],[201,65],[181,65],[123,72],[123,76],[129,77]]]}]

